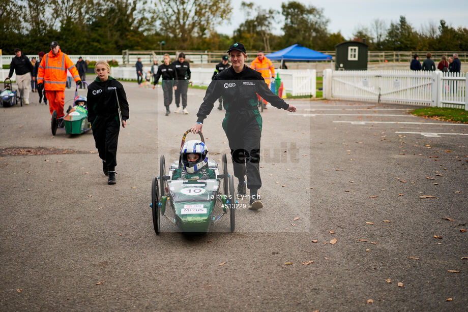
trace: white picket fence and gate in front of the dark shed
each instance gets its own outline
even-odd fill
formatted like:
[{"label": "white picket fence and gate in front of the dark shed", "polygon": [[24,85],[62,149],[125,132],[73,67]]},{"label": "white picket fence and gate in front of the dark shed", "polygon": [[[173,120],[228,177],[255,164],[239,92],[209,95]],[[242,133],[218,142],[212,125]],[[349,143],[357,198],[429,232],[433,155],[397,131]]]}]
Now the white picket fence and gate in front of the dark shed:
[{"label": "white picket fence and gate in front of the dark shed", "polygon": [[324,71],[327,99],[463,108],[468,76],[441,71]]}]

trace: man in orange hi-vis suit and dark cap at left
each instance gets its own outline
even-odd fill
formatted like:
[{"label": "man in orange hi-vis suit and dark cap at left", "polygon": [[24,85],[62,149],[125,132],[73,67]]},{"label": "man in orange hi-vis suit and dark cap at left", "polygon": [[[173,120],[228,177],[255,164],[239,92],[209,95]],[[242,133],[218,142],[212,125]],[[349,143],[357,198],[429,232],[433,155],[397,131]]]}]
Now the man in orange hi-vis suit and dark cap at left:
[{"label": "man in orange hi-vis suit and dark cap at left", "polygon": [[64,116],[67,70],[70,71],[75,82],[79,84],[81,82],[80,76],[70,57],[60,50],[58,42],[52,41],[50,52],[44,55],[39,65],[37,83],[38,86],[44,85],[50,114],[56,110],[58,118]]}]

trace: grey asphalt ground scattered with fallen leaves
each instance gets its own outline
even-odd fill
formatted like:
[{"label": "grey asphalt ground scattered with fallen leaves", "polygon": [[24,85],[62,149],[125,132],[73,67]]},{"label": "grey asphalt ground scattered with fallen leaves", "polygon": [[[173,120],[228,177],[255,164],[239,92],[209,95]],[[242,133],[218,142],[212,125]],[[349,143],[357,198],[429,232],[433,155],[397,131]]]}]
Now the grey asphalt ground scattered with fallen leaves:
[{"label": "grey asphalt ground scattered with fallen leaves", "polygon": [[[466,310],[468,125],[401,105],[270,108],[265,207],[238,209],[235,233],[223,216],[204,235],[163,219],[156,236],[159,156],[178,158],[204,92],[189,89],[189,115],[166,117],[160,88],[124,86],[116,185],[91,133],[52,137],[35,93],[29,106],[0,109],[0,310]],[[215,108],[203,126],[217,161],[228,152],[222,117]],[[13,147],[62,150],[8,155]]]}]

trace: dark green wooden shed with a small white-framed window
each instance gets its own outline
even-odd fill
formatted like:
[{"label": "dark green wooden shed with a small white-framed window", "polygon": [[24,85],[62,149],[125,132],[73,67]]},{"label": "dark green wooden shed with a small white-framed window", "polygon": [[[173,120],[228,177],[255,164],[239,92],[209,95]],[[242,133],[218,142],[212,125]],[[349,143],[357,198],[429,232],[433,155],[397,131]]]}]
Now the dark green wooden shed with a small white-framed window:
[{"label": "dark green wooden shed with a small white-framed window", "polygon": [[367,44],[345,41],[335,46],[335,70],[367,70]]}]

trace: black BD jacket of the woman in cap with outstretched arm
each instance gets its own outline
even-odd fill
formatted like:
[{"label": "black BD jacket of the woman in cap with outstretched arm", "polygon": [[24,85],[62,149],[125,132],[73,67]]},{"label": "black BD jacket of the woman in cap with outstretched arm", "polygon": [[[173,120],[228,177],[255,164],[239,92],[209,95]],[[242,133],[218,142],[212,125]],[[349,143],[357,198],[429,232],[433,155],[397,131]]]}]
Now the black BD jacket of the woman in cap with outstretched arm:
[{"label": "black BD jacket of the woman in cap with outstretched arm", "polygon": [[221,96],[228,113],[258,109],[257,93],[276,108],[289,107],[270,90],[259,72],[244,65],[244,70],[238,74],[230,67],[216,75],[208,86],[203,103],[198,109],[197,122],[203,122],[207,118],[213,109],[213,103]]}]

